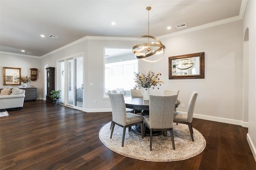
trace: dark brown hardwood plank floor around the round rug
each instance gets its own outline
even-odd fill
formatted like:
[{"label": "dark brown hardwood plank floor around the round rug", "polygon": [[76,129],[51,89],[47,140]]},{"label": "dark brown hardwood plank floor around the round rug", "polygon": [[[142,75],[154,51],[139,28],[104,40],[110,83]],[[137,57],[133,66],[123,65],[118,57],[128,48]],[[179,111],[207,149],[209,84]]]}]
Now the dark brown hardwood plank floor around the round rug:
[{"label": "dark brown hardwood plank floor around the round rug", "polygon": [[27,101],[22,111],[0,117],[0,169],[15,170],[256,170],[246,140],[247,128],[193,119],[206,148],[193,158],[148,162],[112,152],[99,140],[111,113],[85,113],[72,108]]}]

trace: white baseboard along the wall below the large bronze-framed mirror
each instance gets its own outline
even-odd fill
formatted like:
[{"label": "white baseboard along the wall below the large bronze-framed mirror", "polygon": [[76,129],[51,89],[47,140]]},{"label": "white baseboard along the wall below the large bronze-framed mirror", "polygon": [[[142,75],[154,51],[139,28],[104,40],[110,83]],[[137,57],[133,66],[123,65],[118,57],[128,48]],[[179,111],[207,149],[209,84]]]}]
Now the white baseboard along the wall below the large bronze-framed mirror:
[{"label": "white baseboard along the wall below the large bronze-framed mirror", "polygon": [[214,116],[207,116],[207,115],[198,115],[194,114],[194,118],[198,119],[204,119],[208,121],[216,121],[216,122],[221,122],[221,123],[229,123],[232,125],[240,125],[242,127],[247,127],[248,128],[248,122],[243,122],[235,119],[227,119],[227,118],[222,118],[222,117],[214,117]]}]

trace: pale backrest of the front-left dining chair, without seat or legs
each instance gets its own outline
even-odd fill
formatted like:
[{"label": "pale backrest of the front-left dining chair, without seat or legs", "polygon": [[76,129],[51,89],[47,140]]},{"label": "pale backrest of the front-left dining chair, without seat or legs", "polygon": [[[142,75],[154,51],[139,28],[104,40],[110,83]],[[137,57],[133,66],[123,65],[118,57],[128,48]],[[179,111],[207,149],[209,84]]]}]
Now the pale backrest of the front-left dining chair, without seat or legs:
[{"label": "pale backrest of the front-left dining chair, without seat or legs", "polygon": [[126,109],[124,103],[123,94],[109,93],[108,97],[110,99],[112,108],[112,121],[115,123],[125,126],[126,125]]}]

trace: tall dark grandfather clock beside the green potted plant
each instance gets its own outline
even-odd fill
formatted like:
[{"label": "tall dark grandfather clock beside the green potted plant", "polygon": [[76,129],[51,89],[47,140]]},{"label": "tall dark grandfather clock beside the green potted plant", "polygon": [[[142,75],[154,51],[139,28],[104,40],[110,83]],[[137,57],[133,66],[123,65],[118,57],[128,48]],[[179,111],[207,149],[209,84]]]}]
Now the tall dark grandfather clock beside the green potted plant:
[{"label": "tall dark grandfather clock beside the green potted plant", "polygon": [[47,67],[46,68],[46,86],[47,86],[47,95],[46,95],[46,103],[52,103],[51,91],[55,89],[55,67]]}]

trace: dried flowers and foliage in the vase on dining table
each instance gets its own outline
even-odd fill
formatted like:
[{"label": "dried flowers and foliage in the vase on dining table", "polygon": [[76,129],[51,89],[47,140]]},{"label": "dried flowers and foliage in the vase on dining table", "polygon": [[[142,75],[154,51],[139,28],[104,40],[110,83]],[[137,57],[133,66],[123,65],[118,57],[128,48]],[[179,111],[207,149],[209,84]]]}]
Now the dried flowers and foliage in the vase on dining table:
[{"label": "dried flowers and foliage in the vase on dining table", "polygon": [[[135,87],[134,89],[140,89],[140,88],[150,88],[152,87],[152,89],[154,89],[155,87],[157,87],[157,89],[159,89],[158,85],[161,85],[160,83],[164,83],[164,81],[160,81],[159,76],[162,75],[161,73],[157,73],[155,75],[155,73],[153,71],[148,71],[148,73],[146,74],[146,72],[143,70],[141,71],[142,73],[135,73]],[[144,72],[144,73],[143,73]]]}]

